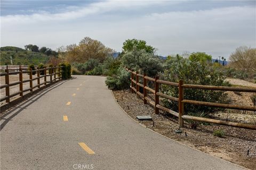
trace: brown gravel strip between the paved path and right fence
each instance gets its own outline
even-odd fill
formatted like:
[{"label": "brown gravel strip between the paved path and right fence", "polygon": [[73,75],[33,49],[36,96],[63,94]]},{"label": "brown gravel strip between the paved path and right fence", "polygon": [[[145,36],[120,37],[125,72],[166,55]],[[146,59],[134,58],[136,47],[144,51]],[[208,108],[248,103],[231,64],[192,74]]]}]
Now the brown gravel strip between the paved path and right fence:
[{"label": "brown gravel strip between the paved path and right fence", "polygon": [[[153,121],[138,121],[146,125],[147,128],[210,155],[249,169],[256,169],[256,132],[254,130],[215,124],[201,124],[197,129],[191,129],[189,124],[185,122],[185,128],[180,128],[182,133],[178,134],[175,133],[175,130],[179,129],[177,118],[164,112],[159,115],[154,114],[153,107],[144,105],[143,101],[137,98],[135,94],[131,94],[130,91],[120,90],[113,91],[113,93],[118,104],[134,120],[137,120],[136,116],[138,115],[153,117],[154,126]],[[213,135],[213,131],[217,129],[225,131],[223,138]],[[248,149],[249,156],[247,156]]]}]

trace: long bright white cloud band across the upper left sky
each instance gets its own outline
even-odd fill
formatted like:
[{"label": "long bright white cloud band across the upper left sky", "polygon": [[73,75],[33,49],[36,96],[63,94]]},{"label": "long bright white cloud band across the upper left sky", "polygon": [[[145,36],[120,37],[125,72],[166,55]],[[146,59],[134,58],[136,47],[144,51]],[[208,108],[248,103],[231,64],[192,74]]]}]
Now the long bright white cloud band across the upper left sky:
[{"label": "long bright white cloud band across the upper left sky", "polygon": [[92,3],[84,7],[67,7],[67,11],[62,13],[52,14],[50,12],[40,11],[28,15],[1,16],[1,20],[6,24],[35,23],[41,21],[63,21],[77,19],[92,14],[105,13],[122,8],[145,7],[161,3],[163,3],[163,1],[147,1],[147,3],[145,3],[145,1],[103,1]]}]

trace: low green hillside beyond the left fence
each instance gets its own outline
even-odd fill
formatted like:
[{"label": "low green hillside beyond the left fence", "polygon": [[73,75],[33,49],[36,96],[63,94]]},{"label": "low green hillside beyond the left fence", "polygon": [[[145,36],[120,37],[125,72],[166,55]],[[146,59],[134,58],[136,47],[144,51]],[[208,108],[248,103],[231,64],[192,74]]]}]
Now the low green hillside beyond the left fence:
[{"label": "low green hillside beyond the left fence", "polygon": [[49,56],[43,53],[30,52],[18,47],[1,47],[1,65],[11,65],[11,56],[13,65],[29,65],[46,63]]}]

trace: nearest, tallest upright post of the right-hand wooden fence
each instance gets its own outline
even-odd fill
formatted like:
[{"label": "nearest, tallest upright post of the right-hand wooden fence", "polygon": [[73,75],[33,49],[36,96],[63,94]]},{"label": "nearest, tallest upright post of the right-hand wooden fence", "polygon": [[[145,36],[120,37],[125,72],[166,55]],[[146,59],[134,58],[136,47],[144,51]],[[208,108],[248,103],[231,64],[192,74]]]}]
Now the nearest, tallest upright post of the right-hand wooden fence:
[{"label": "nearest, tallest upright post of the right-hand wooden fence", "polygon": [[183,94],[183,80],[179,80],[179,127],[183,128],[184,120],[182,118],[184,114],[184,104],[182,102],[184,94]]}]

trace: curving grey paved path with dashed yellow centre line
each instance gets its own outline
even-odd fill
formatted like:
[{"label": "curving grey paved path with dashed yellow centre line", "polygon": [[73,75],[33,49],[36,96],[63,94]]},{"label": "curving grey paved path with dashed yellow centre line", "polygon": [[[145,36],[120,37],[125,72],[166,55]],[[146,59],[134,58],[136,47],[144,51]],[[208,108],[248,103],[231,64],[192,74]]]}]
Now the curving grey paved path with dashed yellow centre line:
[{"label": "curving grey paved path with dashed yellow centre line", "polygon": [[104,81],[77,76],[10,112],[1,120],[1,170],[242,169],[143,128]]}]

